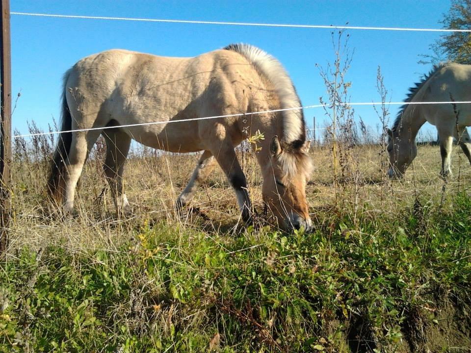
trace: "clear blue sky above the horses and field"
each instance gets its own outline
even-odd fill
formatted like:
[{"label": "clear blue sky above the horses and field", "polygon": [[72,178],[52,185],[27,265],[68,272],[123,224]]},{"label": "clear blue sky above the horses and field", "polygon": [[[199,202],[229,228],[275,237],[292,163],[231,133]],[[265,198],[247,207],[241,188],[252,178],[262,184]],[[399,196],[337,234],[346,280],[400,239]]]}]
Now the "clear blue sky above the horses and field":
[{"label": "clear blue sky above the horses and field", "polygon": [[[316,1],[118,1],[11,0],[12,12],[172,20],[228,21],[299,25],[348,25],[441,28],[449,0]],[[419,54],[440,33],[348,30],[353,52],[346,79],[352,102],[378,101],[376,71],[381,67],[388,100],[402,101],[408,88],[428,73]],[[230,43],[250,43],[285,66],[303,105],[326,97],[319,69],[334,60],[330,29],[169,24],[63,19],[12,15],[12,90],[16,98],[13,128],[27,133],[26,121],[47,128],[59,118],[63,73],[89,54],[122,48],[166,56],[195,56]],[[398,106],[391,106],[391,120]],[[379,124],[372,107],[355,108],[369,126]],[[325,117],[319,108],[305,110],[308,124]]]}]

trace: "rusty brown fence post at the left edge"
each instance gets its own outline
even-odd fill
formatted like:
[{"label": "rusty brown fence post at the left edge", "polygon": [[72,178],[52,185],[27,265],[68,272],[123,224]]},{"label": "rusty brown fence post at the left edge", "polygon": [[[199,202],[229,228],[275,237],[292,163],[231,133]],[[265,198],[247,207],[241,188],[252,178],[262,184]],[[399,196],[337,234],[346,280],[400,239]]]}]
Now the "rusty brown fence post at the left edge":
[{"label": "rusty brown fence post at the left edge", "polygon": [[0,257],[8,248],[11,213],[11,52],[10,1],[1,0],[0,43]]}]

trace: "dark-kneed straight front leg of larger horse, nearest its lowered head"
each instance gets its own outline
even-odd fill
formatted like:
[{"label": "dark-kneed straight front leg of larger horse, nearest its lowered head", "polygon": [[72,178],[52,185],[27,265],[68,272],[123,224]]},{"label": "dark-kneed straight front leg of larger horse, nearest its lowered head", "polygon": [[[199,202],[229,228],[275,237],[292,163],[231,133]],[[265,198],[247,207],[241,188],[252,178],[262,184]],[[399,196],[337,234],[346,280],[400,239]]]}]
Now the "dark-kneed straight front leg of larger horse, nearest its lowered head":
[{"label": "dark-kneed straight front leg of larger horse, nearest its lowered head", "polygon": [[239,161],[235,155],[234,147],[229,142],[223,142],[222,146],[213,152],[221,169],[226,174],[231,186],[234,188],[237,204],[242,212],[242,220],[250,222],[252,202],[250,202],[249,191],[247,189],[247,180]]}]

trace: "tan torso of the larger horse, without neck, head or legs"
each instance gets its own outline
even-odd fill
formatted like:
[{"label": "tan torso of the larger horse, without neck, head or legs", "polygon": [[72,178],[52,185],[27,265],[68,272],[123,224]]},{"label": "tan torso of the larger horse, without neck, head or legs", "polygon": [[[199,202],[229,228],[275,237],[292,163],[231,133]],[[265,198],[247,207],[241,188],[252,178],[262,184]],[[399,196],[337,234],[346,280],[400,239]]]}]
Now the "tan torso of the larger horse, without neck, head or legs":
[{"label": "tan torso of the larger horse, without neck, head or legs", "polygon": [[[162,138],[169,150],[198,151],[205,148],[198,135],[217,122],[192,119],[245,112],[251,87],[262,85],[250,62],[231,50],[181,58],[114,49],[79,60],[65,89],[71,110],[85,112],[77,115],[82,123],[77,127],[105,126],[110,120],[117,125],[187,120],[124,130],[152,147],[158,148],[157,139]],[[192,143],[183,148],[184,140]]]}]

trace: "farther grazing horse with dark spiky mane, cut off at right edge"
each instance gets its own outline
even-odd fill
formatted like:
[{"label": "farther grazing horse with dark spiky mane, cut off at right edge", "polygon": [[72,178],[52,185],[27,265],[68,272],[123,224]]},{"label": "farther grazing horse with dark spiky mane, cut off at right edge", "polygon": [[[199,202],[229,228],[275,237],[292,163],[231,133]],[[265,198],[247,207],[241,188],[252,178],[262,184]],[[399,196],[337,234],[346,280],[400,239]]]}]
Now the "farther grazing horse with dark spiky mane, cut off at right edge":
[{"label": "farther grazing horse with dark spiky mane, cut off at right edge", "polygon": [[[441,64],[410,89],[406,102],[471,101],[471,65]],[[470,104],[405,104],[391,130],[388,152],[391,178],[401,177],[417,155],[416,135],[425,121],[435,125],[442,154],[441,176],[451,174],[451,148],[456,139],[471,163]]]}]

